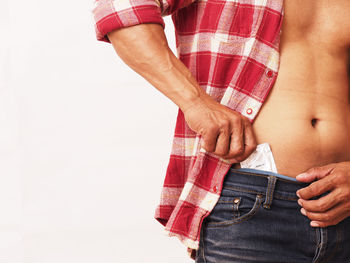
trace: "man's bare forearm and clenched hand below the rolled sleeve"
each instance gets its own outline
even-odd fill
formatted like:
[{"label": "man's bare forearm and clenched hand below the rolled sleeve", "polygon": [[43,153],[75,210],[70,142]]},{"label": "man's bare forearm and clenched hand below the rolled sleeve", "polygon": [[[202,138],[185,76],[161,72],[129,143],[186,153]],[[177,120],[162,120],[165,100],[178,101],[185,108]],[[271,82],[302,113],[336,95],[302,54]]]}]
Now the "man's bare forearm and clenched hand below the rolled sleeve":
[{"label": "man's bare forearm and clenched hand below the rolled sleeve", "polygon": [[202,136],[202,148],[231,163],[246,159],[255,150],[257,143],[248,118],[199,87],[172,53],[160,25],[121,28],[108,37],[127,65],[179,106],[188,126]]}]

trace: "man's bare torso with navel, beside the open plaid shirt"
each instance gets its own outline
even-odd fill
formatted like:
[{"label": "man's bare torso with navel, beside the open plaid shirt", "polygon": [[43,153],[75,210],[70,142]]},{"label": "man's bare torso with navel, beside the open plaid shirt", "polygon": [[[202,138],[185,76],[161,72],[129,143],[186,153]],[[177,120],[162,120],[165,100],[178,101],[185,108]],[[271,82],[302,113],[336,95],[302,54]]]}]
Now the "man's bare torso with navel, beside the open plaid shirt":
[{"label": "man's bare torso with navel, beside the open plaid shirt", "polygon": [[278,77],[253,129],[295,177],[350,160],[350,1],[285,0],[284,14]]}]

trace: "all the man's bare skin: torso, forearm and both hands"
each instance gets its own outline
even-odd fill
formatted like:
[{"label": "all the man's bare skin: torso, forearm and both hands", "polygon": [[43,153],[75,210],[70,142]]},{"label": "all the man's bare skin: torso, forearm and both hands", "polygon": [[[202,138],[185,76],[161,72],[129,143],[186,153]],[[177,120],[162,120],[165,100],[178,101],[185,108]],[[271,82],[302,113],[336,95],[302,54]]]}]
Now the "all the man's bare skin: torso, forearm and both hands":
[{"label": "all the man's bare skin: torso, forearm and both hands", "polygon": [[127,65],[179,106],[208,152],[239,167],[268,142],[280,174],[311,183],[297,192],[301,213],[311,226],[326,227],[350,216],[350,2],[285,0],[284,6],[278,78],[253,125],[199,87],[160,25],[108,37]]}]

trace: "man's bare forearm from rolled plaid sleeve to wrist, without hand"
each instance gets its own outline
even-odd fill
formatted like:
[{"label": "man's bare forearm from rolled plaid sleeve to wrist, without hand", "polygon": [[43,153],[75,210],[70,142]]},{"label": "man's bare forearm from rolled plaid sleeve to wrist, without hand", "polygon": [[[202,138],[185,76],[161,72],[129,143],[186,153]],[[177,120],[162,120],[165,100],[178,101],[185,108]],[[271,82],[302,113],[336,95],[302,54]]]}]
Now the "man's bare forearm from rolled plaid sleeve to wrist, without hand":
[{"label": "man's bare forearm from rolled plaid sleeve to wrist, without hand", "polygon": [[163,28],[139,24],[110,32],[119,57],[172,100],[182,111],[197,101],[215,101],[199,87],[189,69],[173,54]]}]

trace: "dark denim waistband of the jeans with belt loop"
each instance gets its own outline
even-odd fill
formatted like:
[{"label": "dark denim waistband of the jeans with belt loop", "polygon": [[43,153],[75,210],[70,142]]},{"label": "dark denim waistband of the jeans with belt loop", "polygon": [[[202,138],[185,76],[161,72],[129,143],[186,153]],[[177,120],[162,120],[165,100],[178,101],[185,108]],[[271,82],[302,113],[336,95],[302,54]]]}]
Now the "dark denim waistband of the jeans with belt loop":
[{"label": "dark denim waistband of the jeans with belt loop", "polygon": [[297,200],[296,191],[308,186],[282,174],[250,168],[230,168],[225,177],[223,188],[234,188],[265,195],[264,208],[269,208],[272,199]]}]

